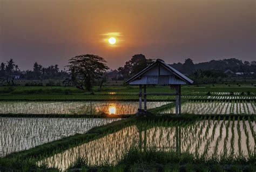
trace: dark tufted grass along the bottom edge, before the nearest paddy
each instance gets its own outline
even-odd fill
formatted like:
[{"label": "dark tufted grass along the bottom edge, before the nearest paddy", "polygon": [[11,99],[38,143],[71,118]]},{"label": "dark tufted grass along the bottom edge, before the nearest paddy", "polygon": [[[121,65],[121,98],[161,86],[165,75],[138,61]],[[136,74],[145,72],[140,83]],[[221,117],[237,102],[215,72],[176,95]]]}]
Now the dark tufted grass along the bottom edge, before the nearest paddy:
[{"label": "dark tufted grass along the bottom edge, before the nearest paddy", "polygon": [[250,157],[197,157],[190,153],[163,152],[155,148],[132,147],[116,165],[88,166],[79,157],[68,171],[255,171],[255,155]]}]

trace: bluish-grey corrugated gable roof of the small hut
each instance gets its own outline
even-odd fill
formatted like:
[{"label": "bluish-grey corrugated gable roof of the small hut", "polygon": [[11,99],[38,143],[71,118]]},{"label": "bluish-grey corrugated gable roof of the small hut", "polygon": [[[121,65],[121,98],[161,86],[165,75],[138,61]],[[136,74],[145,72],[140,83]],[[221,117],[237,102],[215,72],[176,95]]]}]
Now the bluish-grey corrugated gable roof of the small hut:
[{"label": "bluish-grey corrugated gable roof of the small hut", "polygon": [[130,85],[177,85],[192,84],[193,81],[163,60],[157,59],[153,64],[125,81],[125,83]]}]

